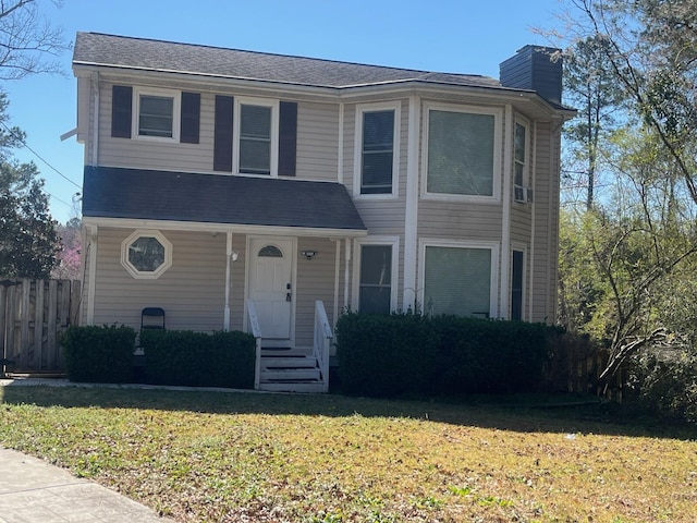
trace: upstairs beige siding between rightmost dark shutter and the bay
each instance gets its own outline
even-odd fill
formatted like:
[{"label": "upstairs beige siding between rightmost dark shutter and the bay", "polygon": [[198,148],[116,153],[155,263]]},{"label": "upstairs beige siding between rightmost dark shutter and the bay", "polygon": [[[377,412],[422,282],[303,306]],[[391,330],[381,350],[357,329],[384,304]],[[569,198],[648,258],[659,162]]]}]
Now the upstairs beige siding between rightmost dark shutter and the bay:
[{"label": "upstairs beige siding between rightmost dark shutter and the bay", "polygon": [[339,105],[297,105],[296,178],[337,181]]}]

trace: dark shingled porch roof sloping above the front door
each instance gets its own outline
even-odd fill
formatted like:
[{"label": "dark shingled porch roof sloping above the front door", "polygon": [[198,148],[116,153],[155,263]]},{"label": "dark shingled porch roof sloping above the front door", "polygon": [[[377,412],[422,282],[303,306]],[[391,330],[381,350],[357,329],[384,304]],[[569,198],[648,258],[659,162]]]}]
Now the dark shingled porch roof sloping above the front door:
[{"label": "dark shingled porch roof sloping above the front door", "polygon": [[86,167],[83,216],[366,231],[339,183]]}]

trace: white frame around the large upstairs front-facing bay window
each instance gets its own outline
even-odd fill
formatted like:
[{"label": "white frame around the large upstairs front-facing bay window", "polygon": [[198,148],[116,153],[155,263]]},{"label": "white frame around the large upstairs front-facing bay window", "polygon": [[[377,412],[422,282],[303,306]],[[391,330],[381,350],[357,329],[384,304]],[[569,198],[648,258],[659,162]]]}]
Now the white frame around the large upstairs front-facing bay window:
[{"label": "white frame around the large upstairs front-facing bay window", "polygon": [[[493,117],[493,169],[491,175],[491,196],[478,196],[473,194],[447,194],[428,192],[428,139],[431,111],[462,112],[465,114],[488,114]],[[503,133],[503,109],[479,106],[462,106],[442,102],[424,104],[424,143],[421,146],[421,198],[441,202],[472,202],[493,203],[501,202],[501,154]]]}]

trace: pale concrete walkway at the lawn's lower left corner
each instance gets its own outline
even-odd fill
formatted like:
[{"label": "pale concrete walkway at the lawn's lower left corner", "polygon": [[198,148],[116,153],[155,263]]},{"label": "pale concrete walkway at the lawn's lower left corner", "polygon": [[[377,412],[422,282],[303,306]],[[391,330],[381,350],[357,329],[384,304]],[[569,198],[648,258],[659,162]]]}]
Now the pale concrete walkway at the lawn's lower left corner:
[{"label": "pale concrete walkway at the lawn's lower left corner", "polygon": [[0,523],[170,523],[147,507],[15,450],[0,448]]}]

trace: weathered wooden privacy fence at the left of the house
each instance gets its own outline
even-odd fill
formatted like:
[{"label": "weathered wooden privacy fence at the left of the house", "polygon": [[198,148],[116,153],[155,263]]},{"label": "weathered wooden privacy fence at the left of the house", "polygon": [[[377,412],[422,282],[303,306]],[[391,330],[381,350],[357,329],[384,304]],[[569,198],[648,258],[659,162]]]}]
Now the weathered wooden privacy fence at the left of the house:
[{"label": "weathered wooden privacy fence at the left of the house", "polygon": [[63,372],[59,340],[77,324],[80,296],[80,281],[0,281],[0,356],[13,362],[9,372]]}]

